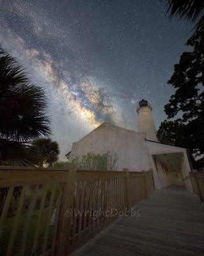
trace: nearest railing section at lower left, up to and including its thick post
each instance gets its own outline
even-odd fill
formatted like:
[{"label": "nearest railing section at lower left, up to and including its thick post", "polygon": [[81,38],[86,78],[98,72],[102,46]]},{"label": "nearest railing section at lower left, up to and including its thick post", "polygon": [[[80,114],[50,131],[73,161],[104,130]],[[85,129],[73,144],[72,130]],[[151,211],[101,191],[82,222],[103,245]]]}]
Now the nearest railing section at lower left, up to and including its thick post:
[{"label": "nearest railing section at lower left, up to and including its thick post", "polygon": [[[70,193],[74,189],[75,176],[76,166],[74,164],[69,164],[68,170],[22,167],[0,169],[1,195],[4,191],[6,192],[6,198],[3,207],[1,207],[0,219],[0,251],[3,255],[4,253],[6,255],[24,255],[27,247],[29,247],[26,244],[28,238],[29,243],[32,241],[32,247],[29,247],[30,255],[45,255],[50,247],[52,255],[54,255],[54,252],[57,253],[56,255],[62,255],[60,254],[61,250],[64,250],[67,241],[67,237],[62,236],[62,230],[64,228],[68,230],[70,225],[70,222],[64,218],[64,212],[73,206],[73,192],[72,195]],[[51,190],[48,191],[50,188]],[[20,197],[14,210],[15,216],[6,219],[13,193],[19,191],[19,189]],[[24,214],[25,202],[29,196],[29,206]],[[46,199],[48,199],[47,205],[45,205]],[[40,200],[40,205],[36,211],[37,200]],[[57,205],[55,204],[56,200]],[[50,227],[55,206],[55,225]],[[35,214],[37,216],[34,220]],[[31,225],[32,221],[34,221],[35,227]],[[11,227],[9,232],[8,227],[4,224]],[[33,232],[29,232],[29,226],[34,228]],[[5,247],[7,247],[6,252],[4,252]]]}]

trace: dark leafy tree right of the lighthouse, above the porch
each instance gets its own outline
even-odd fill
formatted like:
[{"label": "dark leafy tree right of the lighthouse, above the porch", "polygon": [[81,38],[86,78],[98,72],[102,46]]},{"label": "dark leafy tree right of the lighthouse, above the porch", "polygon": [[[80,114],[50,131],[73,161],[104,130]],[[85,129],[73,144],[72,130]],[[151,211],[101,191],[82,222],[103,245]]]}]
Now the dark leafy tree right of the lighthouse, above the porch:
[{"label": "dark leafy tree right of the lighthouse, above the porch", "polygon": [[163,143],[189,148],[194,168],[204,166],[204,35],[197,33],[187,41],[194,47],[184,52],[168,84],[176,88],[164,111],[174,121],[164,120],[157,132]]}]

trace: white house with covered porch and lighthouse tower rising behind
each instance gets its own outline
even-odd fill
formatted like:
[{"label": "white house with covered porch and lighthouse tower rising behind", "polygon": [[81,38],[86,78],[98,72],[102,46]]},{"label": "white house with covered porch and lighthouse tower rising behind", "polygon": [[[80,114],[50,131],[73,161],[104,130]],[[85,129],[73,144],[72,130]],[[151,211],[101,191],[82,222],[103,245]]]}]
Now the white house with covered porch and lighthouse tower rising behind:
[{"label": "white house with covered porch and lighthouse tower rising behind", "polygon": [[138,113],[138,132],[103,123],[80,141],[73,143],[69,161],[89,152],[103,154],[110,150],[119,156],[117,170],[129,172],[148,171],[152,168],[157,189],[170,184],[186,186],[193,191],[189,172],[191,166],[186,148],[159,143],[152,118],[152,108],[141,100]]}]

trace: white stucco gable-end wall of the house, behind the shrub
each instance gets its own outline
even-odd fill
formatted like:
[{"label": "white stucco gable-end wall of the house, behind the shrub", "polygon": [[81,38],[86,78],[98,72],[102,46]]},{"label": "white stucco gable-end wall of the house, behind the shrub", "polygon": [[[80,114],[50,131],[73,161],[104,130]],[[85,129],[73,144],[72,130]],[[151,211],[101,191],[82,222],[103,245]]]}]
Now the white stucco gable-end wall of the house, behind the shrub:
[{"label": "white stucco gable-end wall of the house, behind the shrub", "polygon": [[130,131],[106,123],[82,140],[73,143],[69,158],[71,160],[89,152],[103,154],[108,150],[118,154],[117,170],[119,171],[128,168],[129,171],[141,172],[152,168],[144,132]]}]

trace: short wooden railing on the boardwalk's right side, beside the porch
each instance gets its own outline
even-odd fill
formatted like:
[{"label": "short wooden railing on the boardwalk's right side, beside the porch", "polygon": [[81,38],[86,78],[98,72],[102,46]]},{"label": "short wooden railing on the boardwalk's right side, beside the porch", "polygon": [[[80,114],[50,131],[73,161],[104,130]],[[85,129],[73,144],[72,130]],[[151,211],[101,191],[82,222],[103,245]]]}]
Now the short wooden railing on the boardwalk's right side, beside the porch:
[{"label": "short wooden railing on the boardwalk's right side, beside the porch", "polygon": [[201,202],[204,201],[204,173],[203,172],[190,172],[191,183],[193,185],[193,191],[199,196]]}]

